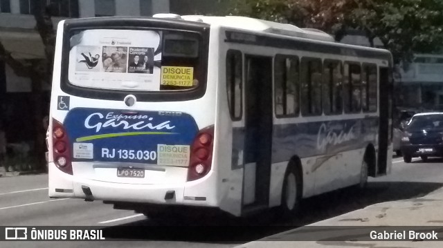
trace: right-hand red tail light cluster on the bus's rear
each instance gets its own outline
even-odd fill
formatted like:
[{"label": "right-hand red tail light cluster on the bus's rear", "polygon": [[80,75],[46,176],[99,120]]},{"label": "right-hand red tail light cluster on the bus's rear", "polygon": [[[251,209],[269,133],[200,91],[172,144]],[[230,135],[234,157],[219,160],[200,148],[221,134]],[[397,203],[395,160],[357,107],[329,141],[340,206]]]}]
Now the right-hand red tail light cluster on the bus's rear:
[{"label": "right-hand red tail light cluster on the bus's rear", "polygon": [[203,178],[211,168],[214,147],[214,126],[201,129],[191,146],[188,182]]}]

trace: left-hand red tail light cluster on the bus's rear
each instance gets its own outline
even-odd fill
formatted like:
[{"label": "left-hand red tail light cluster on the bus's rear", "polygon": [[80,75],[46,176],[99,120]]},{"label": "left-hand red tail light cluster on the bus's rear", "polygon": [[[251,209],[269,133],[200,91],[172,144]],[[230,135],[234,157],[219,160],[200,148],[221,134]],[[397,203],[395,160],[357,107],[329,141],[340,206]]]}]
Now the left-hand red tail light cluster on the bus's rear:
[{"label": "left-hand red tail light cluster on the bus's rear", "polygon": [[73,175],[69,139],[63,124],[53,119],[53,157],[60,171]]}]

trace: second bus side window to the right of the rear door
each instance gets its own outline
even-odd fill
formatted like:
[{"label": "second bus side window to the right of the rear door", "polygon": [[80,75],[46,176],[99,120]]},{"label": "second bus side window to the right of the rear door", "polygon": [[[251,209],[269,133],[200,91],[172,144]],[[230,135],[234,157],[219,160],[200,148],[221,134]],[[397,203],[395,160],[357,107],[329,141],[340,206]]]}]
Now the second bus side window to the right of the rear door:
[{"label": "second bus side window to the right of the rear door", "polygon": [[322,113],[322,61],[321,59],[302,58],[301,107],[302,115],[321,115]]}]

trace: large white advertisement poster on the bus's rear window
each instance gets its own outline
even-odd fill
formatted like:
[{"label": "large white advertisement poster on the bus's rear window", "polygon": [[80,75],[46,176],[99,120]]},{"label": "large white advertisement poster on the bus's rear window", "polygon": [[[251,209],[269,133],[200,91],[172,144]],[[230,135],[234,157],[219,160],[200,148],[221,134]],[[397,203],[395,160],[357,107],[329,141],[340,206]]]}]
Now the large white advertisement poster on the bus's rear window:
[{"label": "large white advertisement poster on the bus's rear window", "polygon": [[71,36],[69,82],[111,90],[160,90],[160,31],[83,30]]}]

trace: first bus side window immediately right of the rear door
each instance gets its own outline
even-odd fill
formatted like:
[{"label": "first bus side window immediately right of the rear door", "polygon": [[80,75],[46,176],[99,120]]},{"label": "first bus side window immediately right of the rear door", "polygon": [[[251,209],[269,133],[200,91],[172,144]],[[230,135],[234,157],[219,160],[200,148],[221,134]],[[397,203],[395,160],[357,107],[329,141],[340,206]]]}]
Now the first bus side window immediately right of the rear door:
[{"label": "first bus side window immediately right of the rear door", "polygon": [[275,115],[278,117],[294,117],[300,111],[298,57],[275,56],[274,91]]}]

